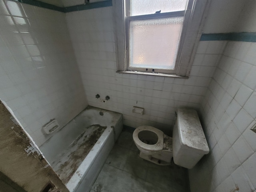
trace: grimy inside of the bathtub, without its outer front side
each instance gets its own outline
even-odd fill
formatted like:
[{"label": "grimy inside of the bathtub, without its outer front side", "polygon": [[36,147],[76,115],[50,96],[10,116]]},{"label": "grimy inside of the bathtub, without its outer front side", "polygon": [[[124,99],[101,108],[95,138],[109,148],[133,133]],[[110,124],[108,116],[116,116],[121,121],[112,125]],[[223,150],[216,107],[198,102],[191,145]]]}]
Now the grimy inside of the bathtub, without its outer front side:
[{"label": "grimy inside of the bathtub, without its outer front side", "polygon": [[[103,112],[103,116],[100,112]],[[103,134],[104,132],[112,132],[116,140],[121,131],[122,114],[88,106],[61,130],[54,133],[40,146],[40,150],[62,181],[67,184],[101,135],[110,134]],[[103,142],[104,138],[101,140]]]}]

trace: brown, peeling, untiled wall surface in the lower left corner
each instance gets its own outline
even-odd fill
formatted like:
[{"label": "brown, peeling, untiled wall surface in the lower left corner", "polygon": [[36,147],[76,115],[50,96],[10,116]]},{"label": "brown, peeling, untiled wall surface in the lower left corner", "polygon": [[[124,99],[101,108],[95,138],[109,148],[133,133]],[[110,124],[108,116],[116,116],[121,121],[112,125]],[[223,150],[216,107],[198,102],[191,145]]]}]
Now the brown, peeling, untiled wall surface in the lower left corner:
[{"label": "brown, peeling, untiled wall surface in the lower left corner", "polygon": [[24,129],[10,119],[10,113],[0,102],[0,172],[27,192],[42,192],[49,182],[68,192]]}]

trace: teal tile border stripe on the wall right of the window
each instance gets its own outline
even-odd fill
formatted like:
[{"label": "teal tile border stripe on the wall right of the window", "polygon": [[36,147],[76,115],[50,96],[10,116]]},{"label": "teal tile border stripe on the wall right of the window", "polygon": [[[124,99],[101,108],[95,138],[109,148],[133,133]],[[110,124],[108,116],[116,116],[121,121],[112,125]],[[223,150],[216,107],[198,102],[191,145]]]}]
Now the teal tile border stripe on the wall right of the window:
[{"label": "teal tile border stripe on the wall right of the window", "polygon": [[202,34],[200,41],[244,41],[256,42],[256,32]]}]

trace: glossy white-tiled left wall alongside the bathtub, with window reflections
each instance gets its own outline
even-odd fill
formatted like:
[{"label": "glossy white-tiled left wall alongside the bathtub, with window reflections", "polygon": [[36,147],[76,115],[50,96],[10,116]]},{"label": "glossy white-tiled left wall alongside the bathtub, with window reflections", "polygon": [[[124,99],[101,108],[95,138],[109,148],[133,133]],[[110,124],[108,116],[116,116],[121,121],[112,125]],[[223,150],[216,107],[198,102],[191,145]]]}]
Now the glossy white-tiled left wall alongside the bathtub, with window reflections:
[{"label": "glossy white-tiled left wall alongside the bathtub, with window reflections", "polygon": [[64,13],[0,0],[0,98],[38,146],[87,106]]}]

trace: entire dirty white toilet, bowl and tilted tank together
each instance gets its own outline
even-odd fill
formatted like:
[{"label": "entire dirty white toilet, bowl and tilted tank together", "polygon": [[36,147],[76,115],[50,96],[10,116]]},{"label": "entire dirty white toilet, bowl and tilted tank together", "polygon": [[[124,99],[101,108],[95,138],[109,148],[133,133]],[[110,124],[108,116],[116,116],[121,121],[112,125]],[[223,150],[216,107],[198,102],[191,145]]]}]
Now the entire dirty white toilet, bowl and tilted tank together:
[{"label": "entire dirty white toilet, bowl and tilted tank together", "polygon": [[140,157],[158,165],[174,163],[191,169],[205,155],[209,147],[196,110],[178,109],[177,119],[170,137],[152,126],[139,126],[133,140]]}]

